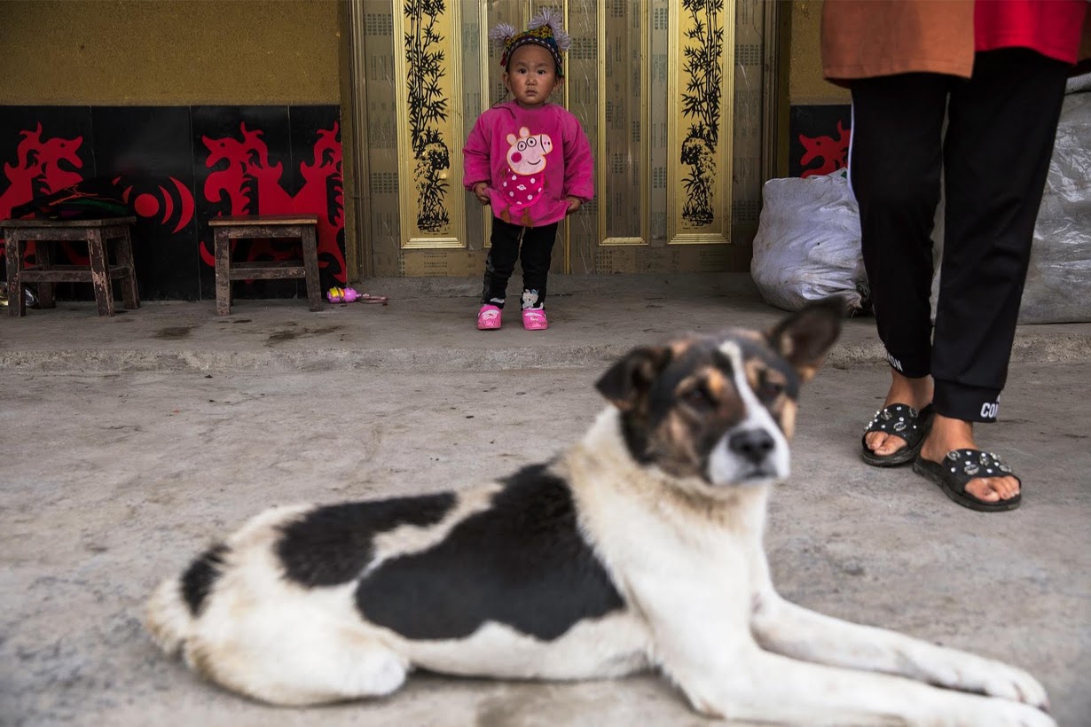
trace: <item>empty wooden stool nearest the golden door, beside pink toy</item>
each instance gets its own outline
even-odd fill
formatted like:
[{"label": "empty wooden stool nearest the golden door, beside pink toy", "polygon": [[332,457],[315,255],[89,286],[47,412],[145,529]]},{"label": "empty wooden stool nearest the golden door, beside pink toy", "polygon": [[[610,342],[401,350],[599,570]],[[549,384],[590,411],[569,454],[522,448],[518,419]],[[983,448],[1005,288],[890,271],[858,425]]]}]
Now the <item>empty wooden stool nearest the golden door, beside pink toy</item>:
[{"label": "empty wooden stool nearest the golden door, beside pink toy", "polygon": [[[279,280],[305,278],[307,300],[312,311],[322,310],[319,289],[319,243],[316,215],[256,215],[254,217],[214,217],[208,225],[216,241],[216,313],[231,312],[232,280]],[[303,245],[303,260],[243,263],[231,260],[231,240],[297,238]]]}]

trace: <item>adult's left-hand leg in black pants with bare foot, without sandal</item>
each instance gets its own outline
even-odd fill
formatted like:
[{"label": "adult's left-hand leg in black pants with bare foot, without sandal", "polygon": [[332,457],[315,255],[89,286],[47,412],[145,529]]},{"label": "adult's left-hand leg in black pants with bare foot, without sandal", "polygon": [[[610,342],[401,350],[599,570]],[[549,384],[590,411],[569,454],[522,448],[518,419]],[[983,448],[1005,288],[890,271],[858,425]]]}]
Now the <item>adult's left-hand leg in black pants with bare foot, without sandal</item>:
[{"label": "adult's left-hand leg in black pants with bare foot, without sandal", "polygon": [[[890,362],[884,407],[932,401],[932,227],[948,76],[907,73],[852,86],[849,180],[860,205],[861,247],[879,339]],[[886,457],[906,446],[872,432]]]}]

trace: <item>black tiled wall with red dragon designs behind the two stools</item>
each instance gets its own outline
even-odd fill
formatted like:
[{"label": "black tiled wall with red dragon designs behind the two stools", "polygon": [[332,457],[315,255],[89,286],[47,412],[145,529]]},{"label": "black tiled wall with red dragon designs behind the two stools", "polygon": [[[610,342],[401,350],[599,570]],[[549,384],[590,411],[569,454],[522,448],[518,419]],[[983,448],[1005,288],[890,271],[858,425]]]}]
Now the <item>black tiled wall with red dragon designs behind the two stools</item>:
[{"label": "black tiled wall with red dragon designs behind the two stools", "polygon": [[[212,300],[211,217],[316,214],[323,288],[344,284],[338,124],[336,106],[0,106],[0,219],[36,196],[109,177],[139,220],[141,296]],[[296,249],[284,241],[239,244],[242,258],[287,257]],[[64,254],[75,259],[85,251]],[[305,295],[295,280],[236,286],[241,298]],[[89,287],[68,288],[58,296],[91,299]]]}]

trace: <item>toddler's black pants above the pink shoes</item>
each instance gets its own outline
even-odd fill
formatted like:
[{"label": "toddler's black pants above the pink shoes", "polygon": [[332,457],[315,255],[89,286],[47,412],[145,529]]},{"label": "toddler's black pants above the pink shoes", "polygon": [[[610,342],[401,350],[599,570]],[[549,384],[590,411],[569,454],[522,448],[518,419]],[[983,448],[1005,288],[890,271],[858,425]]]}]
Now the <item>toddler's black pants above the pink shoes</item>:
[{"label": "toddler's black pants above the pink shoes", "polygon": [[492,247],[484,260],[482,304],[504,307],[507,280],[515,271],[515,260],[519,260],[523,265],[521,307],[542,307],[546,303],[546,282],[549,278],[553,242],[556,240],[556,226],[553,222],[542,227],[521,227],[492,218]]}]

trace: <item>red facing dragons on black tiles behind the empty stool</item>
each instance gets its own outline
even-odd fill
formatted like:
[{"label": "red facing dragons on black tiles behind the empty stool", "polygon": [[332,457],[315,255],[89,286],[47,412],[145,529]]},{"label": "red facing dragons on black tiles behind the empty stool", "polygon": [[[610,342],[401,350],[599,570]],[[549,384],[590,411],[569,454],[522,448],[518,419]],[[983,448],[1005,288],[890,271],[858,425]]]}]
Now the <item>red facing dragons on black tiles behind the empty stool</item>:
[{"label": "red facing dragons on black tiles behind the empty stool", "polygon": [[[290,215],[292,213],[319,216],[319,266],[331,267],[337,282],[346,282],[345,257],[338,235],[345,229],[344,192],[341,186],[341,144],[337,141],[339,125],[320,129],[313,147],[313,162],[301,161],[303,186],[292,196],[280,183],[284,165],[269,163],[268,147],[262,141],[261,130],[239,125],[241,138],[202,136],[208,147],[205,166],[226,167],[208,174],[205,180],[205,199],[228,203],[228,215]],[[250,246],[248,259],[286,259],[291,252],[274,246],[272,241],[255,241]],[[215,266],[216,259],[209,245],[201,242],[201,257],[206,265]]]}]

